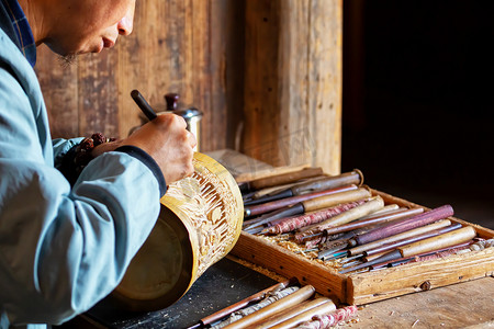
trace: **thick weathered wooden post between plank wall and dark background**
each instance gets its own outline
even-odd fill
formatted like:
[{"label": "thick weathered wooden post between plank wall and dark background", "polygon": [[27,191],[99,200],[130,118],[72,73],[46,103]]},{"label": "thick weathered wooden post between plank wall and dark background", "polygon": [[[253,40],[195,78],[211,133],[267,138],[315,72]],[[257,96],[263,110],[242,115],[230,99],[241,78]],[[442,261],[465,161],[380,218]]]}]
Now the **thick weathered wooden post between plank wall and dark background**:
[{"label": "thick weathered wooden post between plank wall and dark background", "polygon": [[244,154],[339,173],[341,7],[247,1]]}]

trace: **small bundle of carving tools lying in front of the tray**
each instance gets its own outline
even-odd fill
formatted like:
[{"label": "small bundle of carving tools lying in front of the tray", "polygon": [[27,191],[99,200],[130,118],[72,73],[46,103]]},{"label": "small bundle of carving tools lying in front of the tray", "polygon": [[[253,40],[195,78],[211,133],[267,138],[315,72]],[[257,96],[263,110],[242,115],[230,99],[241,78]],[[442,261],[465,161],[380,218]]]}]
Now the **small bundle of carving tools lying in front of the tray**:
[{"label": "small bundle of carving tools lying in front of the tray", "polygon": [[300,286],[292,279],[256,293],[216,311],[188,329],[213,328],[329,328],[348,320],[357,311],[349,306],[337,309],[327,297],[315,296],[312,285]]}]

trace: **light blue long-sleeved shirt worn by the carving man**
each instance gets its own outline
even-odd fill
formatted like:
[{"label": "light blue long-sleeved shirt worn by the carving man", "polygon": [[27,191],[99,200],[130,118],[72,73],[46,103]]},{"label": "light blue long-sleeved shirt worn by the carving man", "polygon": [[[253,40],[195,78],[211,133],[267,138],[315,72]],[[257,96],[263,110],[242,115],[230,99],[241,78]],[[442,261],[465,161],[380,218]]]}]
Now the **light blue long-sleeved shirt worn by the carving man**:
[{"label": "light blue long-sleeved shirt worn by the carving man", "polygon": [[158,164],[135,148],[97,157],[70,186],[56,163],[80,139],[52,140],[12,3],[0,0],[1,329],[60,324],[111,293],[166,189]]}]

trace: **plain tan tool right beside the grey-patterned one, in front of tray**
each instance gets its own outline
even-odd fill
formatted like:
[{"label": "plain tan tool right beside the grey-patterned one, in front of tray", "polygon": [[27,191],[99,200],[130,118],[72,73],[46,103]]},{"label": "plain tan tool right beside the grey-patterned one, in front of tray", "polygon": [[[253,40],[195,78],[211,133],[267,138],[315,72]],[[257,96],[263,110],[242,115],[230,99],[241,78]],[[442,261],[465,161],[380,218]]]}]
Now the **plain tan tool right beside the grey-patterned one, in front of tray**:
[{"label": "plain tan tool right beside the grey-patterned one, in front of tray", "polygon": [[315,293],[315,288],[312,285],[305,285],[294,292],[293,294],[283,297],[248,316],[243,317],[242,319],[224,327],[224,329],[242,329],[242,328],[250,328],[254,324],[260,322],[266,318],[283,310],[294,305],[297,305],[304,300],[307,300]]}]

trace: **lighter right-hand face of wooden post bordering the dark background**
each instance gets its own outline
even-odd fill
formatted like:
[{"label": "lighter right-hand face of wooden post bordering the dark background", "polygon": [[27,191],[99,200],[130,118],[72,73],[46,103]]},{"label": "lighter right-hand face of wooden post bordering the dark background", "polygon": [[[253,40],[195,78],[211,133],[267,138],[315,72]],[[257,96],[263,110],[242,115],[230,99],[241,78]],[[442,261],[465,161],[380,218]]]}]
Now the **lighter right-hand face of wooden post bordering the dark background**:
[{"label": "lighter right-hand face of wooden post bordering the dark background", "polygon": [[340,172],[343,0],[311,1],[308,111],[313,166]]}]

